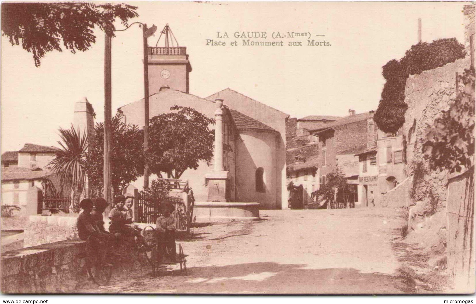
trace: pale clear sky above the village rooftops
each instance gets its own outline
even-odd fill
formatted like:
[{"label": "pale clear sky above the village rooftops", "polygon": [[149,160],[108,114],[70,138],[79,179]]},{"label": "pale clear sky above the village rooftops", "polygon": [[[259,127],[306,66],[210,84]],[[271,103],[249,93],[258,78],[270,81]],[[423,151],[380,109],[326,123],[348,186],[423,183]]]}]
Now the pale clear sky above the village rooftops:
[{"label": "pale clear sky above the village rooftops", "polygon": [[[375,110],[385,83],[381,68],[422,40],[456,37],[464,43],[461,2],[127,2],[130,20],[169,23],[192,65],[190,93],[205,98],[232,88],[290,117],[348,115]],[[118,24],[118,29],[121,26]],[[229,39],[218,39],[217,31]],[[309,32],[330,46],[242,46],[235,32]],[[104,117],[104,33],[85,52],[53,51],[34,66],[32,54],[1,38],[1,152],[24,143],[55,145],[69,127],[74,103],[88,98],[96,122]],[[112,42],[112,108],[143,98],[142,30],[118,32]],[[315,37],[324,35],[324,37]],[[155,46],[159,31],[149,38]],[[206,45],[206,39],[226,46]],[[229,42],[237,40],[238,46]],[[255,39],[263,40],[263,39]],[[279,40],[279,39],[278,39]],[[226,104],[226,101],[225,101]]]}]

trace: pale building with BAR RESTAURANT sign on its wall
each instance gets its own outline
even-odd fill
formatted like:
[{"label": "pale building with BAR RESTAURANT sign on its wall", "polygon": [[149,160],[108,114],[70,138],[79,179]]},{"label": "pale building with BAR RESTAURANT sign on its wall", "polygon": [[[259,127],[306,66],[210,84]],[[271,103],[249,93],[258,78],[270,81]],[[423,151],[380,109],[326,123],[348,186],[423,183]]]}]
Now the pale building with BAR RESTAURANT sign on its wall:
[{"label": "pale building with BAR RESTAURANT sign on its wall", "polygon": [[386,136],[379,131],[377,146],[356,156],[359,158],[359,202],[362,206],[378,206],[382,196],[406,178],[403,137]]}]

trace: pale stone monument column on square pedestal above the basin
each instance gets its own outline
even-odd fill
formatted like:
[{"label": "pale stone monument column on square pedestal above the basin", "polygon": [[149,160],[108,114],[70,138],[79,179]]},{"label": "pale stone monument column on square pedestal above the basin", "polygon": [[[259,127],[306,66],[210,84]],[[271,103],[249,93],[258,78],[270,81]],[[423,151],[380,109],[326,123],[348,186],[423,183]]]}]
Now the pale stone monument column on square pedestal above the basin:
[{"label": "pale stone monument column on square pedestal above the basin", "polygon": [[213,170],[205,176],[208,202],[228,202],[229,172],[223,168],[223,99],[215,99],[215,148],[213,151]]}]

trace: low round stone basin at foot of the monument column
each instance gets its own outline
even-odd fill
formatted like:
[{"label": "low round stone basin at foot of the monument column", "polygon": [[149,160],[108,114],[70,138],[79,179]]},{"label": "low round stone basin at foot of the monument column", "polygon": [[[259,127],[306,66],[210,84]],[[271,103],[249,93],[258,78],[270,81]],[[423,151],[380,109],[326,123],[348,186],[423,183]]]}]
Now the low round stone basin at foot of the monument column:
[{"label": "low round stone basin at foot of the monument column", "polygon": [[259,220],[259,203],[195,202],[193,222]]}]

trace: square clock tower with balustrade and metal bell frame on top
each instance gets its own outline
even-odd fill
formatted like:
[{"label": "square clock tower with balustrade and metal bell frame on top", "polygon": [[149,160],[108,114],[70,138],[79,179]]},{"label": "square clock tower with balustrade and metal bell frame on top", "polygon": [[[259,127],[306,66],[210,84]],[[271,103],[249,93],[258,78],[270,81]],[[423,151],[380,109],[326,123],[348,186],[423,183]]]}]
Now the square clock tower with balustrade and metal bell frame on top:
[{"label": "square clock tower with balustrade and metal bell frame on top", "polygon": [[[161,38],[165,45],[159,47]],[[160,33],[155,47],[149,47],[149,94],[169,87],[188,93],[188,73],[192,71],[186,47],[178,46],[169,24]]]}]

